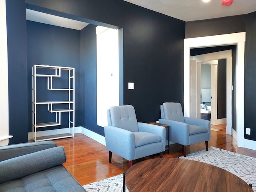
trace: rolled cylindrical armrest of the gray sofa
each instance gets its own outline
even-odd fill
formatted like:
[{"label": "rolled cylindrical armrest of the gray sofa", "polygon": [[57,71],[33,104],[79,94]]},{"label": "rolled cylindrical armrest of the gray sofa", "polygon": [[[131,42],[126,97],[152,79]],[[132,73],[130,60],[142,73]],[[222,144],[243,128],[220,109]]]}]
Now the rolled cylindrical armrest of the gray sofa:
[{"label": "rolled cylindrical armrest of the gray sofa", "polygon": [[0,162],[0,183],[36,173],[66,162],[63,146],[49,148]]}]

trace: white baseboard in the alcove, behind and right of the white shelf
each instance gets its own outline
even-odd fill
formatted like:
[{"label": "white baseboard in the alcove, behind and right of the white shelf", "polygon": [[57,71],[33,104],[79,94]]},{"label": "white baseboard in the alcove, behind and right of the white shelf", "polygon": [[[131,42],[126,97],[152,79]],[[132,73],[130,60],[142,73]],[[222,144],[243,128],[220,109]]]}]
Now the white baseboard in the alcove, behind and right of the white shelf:
[{"label": "white baseboard in the alcove, behind and right of the white shelf", "polygon": [[[62,129],[54,129],[54,130],[47,130],[47,131],[38,131],[36,132],[36,135],[38,137],[42,137],[42,136],[48,136],[48,135],[57,135],[57,134],[64,134],[68,132],[68,128],[62,128]],[[82,133],[85,136],[90,137],[91,139],[101,143],[102,145],[106,146],[106,142],[105,142],[105,137],[97,134],[91,130],[88,130],[82,126],[78,126],[75,127],[75,133]],[[28,132],[28,140],[32,140],[33,139],[33,134],[32,132]]]}]

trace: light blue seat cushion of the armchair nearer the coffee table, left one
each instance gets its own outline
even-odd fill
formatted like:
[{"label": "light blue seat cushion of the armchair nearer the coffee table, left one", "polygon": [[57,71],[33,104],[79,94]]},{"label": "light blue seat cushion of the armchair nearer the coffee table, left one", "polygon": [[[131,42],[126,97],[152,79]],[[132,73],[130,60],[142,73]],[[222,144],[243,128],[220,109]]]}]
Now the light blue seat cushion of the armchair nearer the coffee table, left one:
[{"label": "light blue seat cushion of the armchair nearer the coffee table, left one", "polygon": [[156,134],[148,133],[148,132],[133,132],[135,136],[135,147],[139,147],[142,145],[161,142],[161,137]]}]

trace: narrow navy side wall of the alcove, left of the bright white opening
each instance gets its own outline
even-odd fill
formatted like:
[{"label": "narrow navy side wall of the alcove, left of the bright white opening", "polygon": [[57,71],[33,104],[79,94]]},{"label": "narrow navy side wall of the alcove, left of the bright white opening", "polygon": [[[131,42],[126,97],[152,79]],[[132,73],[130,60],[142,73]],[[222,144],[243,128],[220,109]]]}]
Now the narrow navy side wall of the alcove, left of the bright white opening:
[{"label": "narrow navy side wall of the alcove, left of the bright white opening", "polygon": [[80,32],[82,76],[82,126],[104,135],[104,129],[97,125],[97,53],[96,26],[88,25]]}]

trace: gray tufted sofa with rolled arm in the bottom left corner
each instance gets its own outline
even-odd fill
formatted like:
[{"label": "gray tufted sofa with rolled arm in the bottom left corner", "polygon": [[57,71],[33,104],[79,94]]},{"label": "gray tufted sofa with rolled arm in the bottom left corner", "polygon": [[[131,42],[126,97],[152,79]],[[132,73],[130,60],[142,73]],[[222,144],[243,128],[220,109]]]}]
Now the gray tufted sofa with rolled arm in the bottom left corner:
[{"label": "gray tufted sofa with rolled arm in the bottom left corner", "polygon": [[64,147],[53,141],[1,146],[0,192],[84,192],[64,162]]}]

